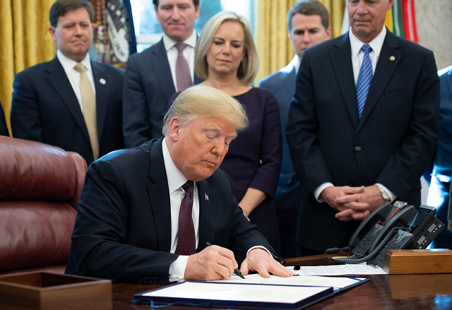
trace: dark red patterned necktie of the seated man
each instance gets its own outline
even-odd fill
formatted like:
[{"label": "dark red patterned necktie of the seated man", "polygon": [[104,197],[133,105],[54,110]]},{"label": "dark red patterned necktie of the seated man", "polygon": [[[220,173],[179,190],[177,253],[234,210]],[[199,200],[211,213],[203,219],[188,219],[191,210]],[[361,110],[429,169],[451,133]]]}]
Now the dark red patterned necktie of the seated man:
[{"label": "dark red patterned necktie of the seated man", "polygon": [[177,246],[174,254],[193,255],[196,252],[195,228],[193,225],[193,217],[191,210],[193,209],[193,191],[194,181],[186,181],[182,185],[185,191],[184,199],[182,199],[181,208],[179,210],[179,227],[177,231]]}]

